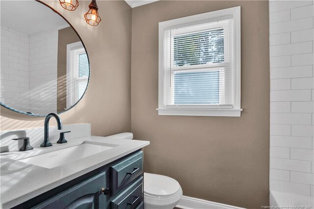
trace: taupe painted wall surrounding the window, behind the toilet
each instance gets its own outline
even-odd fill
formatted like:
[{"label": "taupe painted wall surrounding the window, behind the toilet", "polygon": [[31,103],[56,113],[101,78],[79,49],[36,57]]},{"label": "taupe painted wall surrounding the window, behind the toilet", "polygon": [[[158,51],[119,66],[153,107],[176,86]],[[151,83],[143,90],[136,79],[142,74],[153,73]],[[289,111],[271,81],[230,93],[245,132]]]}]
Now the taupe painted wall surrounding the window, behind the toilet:
[{"label": "taupe painted wall surrounding the window, behind the toilet", "polygon": [[[241,6],[239,118],[158,116],[158,22]],[[157,1],[132,9],[131,130],[147,139],[145,171],[183,195],[245,208],[269,205],[268,1]]]}]

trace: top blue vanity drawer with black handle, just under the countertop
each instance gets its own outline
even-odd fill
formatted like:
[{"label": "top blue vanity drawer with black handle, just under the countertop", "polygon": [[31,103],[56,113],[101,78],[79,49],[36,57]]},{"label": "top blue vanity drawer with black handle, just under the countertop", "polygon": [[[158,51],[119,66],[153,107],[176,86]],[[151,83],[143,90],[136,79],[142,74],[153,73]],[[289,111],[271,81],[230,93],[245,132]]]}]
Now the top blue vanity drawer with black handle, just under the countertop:
[{"label": "top blue vanity drawer with black handle, just under the countertop", "polygon": [[131,157],[110,167],[111,194],[131,183],[143,173],[143,152],[140,151]]}]

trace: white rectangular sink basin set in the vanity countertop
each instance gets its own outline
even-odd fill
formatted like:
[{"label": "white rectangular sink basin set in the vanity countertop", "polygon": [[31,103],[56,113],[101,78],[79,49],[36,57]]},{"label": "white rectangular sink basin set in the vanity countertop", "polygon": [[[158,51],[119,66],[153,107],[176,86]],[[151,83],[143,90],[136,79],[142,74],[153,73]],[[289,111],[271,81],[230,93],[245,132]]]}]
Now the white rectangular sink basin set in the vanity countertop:
[{"label": "white rectangular sink basin set in the vanity countertop", "polygon": [[37,156],[26,157],[19,161],[44,168],[54,168],[84,157],[95,155],[113,147],[114,145],[108,146],[108,144],[100,145],[83,142],[82,144],[73,147],[63,148]]}]

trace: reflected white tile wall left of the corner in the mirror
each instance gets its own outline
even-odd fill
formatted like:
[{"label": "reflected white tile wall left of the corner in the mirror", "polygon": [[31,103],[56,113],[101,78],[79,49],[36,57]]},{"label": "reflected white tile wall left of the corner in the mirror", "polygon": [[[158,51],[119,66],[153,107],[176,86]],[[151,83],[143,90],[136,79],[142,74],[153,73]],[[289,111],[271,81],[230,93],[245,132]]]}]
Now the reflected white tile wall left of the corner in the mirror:
[{"label": "reflected white tile wall left of the corner in the mirror", "polygon": [[1,26],[0,101],[28,112],[29,108],[29,37]]}]

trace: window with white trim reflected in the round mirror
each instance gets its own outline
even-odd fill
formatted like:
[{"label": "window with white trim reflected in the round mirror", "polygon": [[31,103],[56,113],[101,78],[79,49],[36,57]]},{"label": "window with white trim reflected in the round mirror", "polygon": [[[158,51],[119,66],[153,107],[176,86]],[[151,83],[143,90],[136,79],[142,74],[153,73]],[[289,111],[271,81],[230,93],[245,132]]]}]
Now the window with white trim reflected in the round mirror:
[{"label": "window with white trim reflected in the round mirror", "polygon": [[83,96],[89,76],[89,63],[82,43],[67,45],[67,109]]}]

